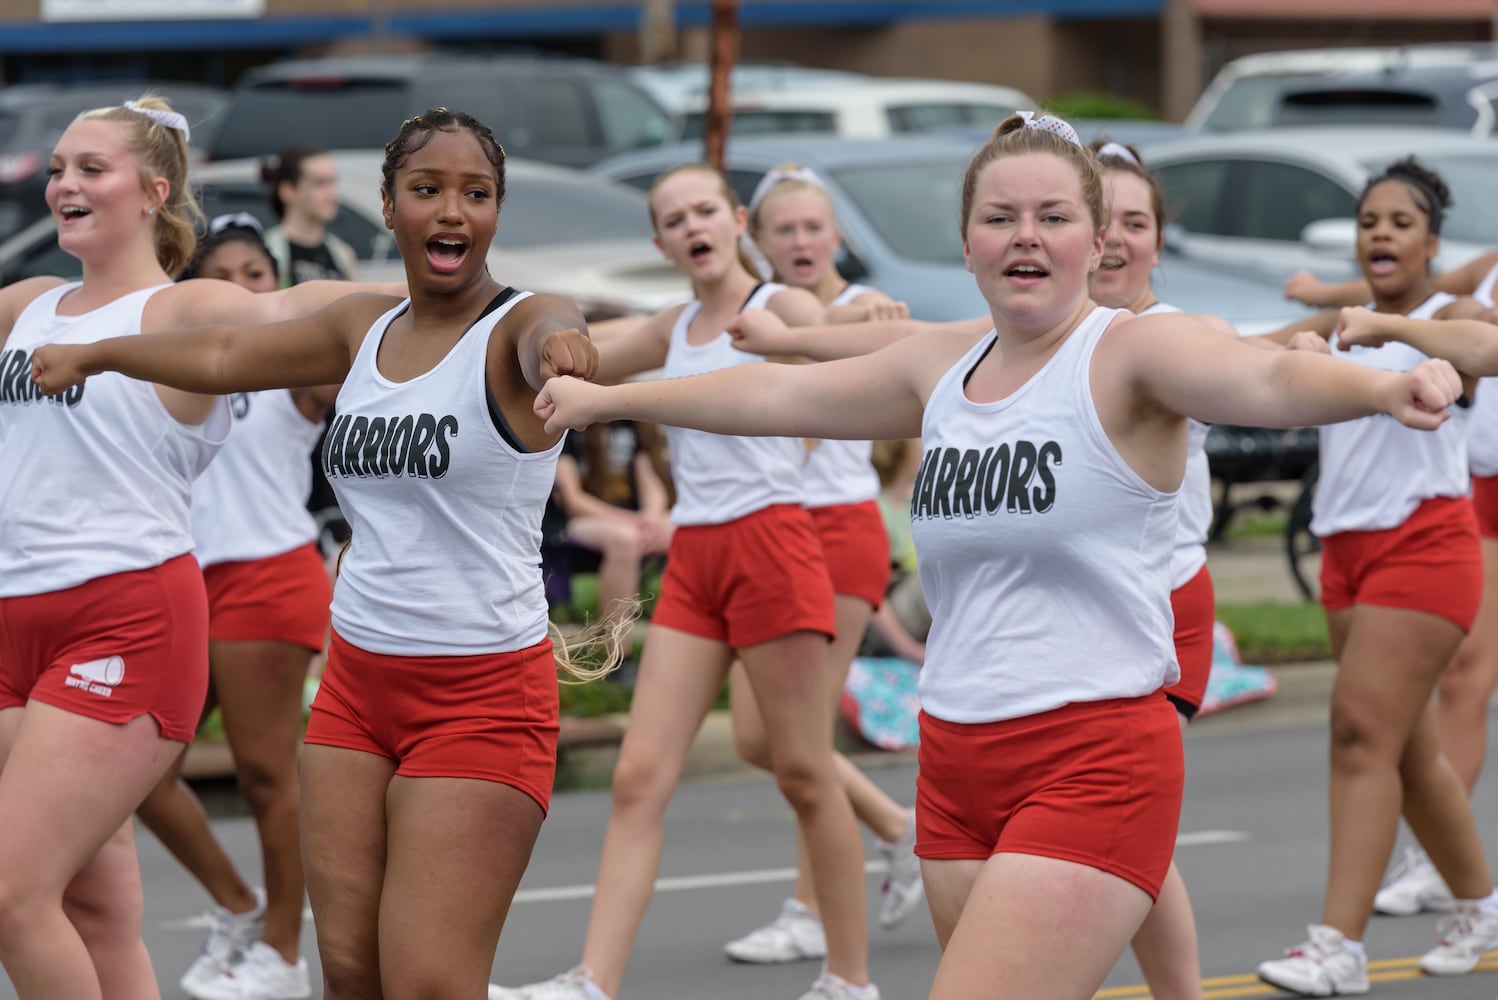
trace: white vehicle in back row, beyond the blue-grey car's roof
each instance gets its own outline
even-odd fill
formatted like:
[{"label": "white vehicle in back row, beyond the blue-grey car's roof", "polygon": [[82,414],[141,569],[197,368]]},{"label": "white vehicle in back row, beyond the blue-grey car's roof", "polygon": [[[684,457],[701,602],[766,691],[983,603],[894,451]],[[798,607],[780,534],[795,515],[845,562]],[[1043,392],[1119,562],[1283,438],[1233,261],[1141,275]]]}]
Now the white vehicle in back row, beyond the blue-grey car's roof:
[{"label": "white vehicle in back row, beyond the blue-grey car's roof", "polygon": [[[857,82],[733,93],[734,135],[819,132],[845,139],[884,139],[911,132],[989,126],[1035,99],[1013,87],[950,79],[869,76]],[[682,117],[682,139],[701,139],[707,99]]]}]

